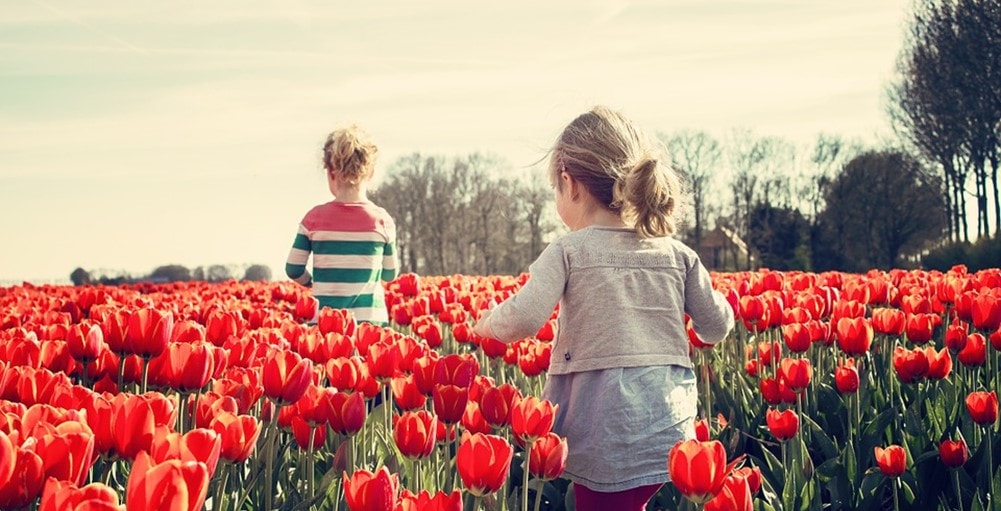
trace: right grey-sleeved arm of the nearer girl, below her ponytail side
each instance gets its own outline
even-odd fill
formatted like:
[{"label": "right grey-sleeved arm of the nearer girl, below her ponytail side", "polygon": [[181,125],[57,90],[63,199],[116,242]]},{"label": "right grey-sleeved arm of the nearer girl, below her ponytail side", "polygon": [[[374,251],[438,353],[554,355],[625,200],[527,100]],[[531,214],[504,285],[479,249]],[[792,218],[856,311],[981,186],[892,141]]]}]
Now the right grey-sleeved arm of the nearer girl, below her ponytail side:
[{"label": "right grey-sleeved arm of the nearer girl, below her ponytail side", "polygon": [[685,278],[685,312],[706,344],[723,341],[734,328],[734,310],[727,298],[713,289],[713,280],[698,259]]}]

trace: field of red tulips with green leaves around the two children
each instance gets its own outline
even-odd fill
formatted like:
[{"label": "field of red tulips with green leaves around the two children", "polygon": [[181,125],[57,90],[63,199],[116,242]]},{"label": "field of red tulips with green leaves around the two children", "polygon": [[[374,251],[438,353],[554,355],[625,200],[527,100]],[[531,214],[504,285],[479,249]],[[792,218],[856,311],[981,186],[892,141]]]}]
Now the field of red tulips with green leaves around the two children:
[{"label": "field of red tulips with green leaves around the two children", "polygon": [[[385,327],[287,282],[0,288],[0,509],[573,510],[558,313],[471,329],[526,279],[402,275]],[[650,509],[1001,510],[1001,271],[713,279],[737,327],[689,333]]]}]

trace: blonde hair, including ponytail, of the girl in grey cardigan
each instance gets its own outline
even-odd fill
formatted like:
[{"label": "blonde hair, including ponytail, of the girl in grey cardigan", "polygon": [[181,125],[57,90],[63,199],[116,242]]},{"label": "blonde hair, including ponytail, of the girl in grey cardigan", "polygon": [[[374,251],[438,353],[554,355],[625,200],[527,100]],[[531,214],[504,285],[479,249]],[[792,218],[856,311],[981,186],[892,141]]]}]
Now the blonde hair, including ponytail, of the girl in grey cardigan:
[{"label": "blonde hair, including ponytail, of the girl in grey cardigan", "polygon": [[629,119],[604,106],[574,119],[550,155],[550,180],[567,172],[643,237],[675,232],[684,193],[663,149]]}]

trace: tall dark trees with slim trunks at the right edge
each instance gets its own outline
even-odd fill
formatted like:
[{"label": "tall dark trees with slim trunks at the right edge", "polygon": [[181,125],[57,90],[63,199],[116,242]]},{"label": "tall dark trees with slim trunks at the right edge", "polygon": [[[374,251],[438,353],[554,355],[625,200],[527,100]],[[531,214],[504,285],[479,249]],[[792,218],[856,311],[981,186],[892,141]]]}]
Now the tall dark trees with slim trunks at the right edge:
[{"label": "tall dark trees with slim trunks at the right edge", "polygon": [[942,169],[950,238],[970,239],[971,174],[977,234],[990,235],[990,202],[995,228],[1001,225],[1001,0],[918,2],[899,70],[890,114],[897,131]]}]

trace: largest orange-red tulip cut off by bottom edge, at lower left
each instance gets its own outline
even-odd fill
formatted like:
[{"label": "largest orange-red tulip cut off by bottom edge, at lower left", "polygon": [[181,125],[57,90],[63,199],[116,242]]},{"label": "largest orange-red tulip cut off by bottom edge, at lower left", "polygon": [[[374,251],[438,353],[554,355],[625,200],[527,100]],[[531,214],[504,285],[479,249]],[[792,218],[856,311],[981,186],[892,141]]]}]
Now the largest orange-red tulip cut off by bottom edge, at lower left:
[{"label": "largest orange-red tulip cut off by bottom edge, at lower left", "polygon": [[204,463],[169,460],[155,463],[145,451],[136,455],[125,493],[128,509],[195,511],[208,492]]}]

